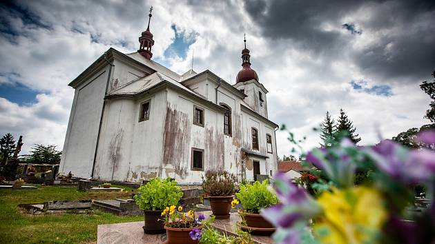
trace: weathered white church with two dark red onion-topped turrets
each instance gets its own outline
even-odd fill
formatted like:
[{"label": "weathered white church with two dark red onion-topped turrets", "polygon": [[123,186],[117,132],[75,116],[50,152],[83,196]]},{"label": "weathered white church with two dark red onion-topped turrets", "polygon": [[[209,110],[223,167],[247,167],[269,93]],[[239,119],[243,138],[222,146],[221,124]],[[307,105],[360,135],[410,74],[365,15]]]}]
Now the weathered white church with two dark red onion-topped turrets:
[{"label": "weathered white church with two dark red onion-topped turrets", "polygon": [[177,74],[152,60],[148,27],[139,50],[107,50],[69,83],[75,89],[59,173],[99,181],[170,176],[200,183],[207,170],[253,181],[278,170],[267,90],[242,50],[231,85],[210,70]]}]

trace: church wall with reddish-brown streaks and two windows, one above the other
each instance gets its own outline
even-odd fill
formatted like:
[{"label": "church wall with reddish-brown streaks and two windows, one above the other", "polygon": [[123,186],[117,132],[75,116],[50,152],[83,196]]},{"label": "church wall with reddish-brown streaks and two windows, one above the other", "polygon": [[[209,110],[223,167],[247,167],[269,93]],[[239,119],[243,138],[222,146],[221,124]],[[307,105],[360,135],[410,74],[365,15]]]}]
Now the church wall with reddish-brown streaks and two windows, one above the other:
[{"label": "church wall with reddish-brown streaks and two windows, one above the other", "polygon": [[[193,106],[204,109],[204,127],[193,124]],[[206,170],[224,169],[223,113],[168,91],[164,130],[164,173],[180,182],[200,182]],[[191,170],[191,150],[204,150],[204,171]]]}]

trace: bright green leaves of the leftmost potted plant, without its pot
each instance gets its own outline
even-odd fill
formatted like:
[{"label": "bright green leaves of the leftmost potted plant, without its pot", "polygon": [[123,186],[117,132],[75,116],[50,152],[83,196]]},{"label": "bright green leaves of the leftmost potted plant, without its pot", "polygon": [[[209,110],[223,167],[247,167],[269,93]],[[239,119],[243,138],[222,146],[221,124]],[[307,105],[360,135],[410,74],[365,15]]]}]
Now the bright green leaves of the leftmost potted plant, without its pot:
[{"label": "bright green leaves of the leftmost potted plant, without its pot", "polygon": [[182,196],[181,188],[170,177],[164,180],[154,178],[137,189],[135,200],[141,210],[164,210],[165,207],[177,205]]}]

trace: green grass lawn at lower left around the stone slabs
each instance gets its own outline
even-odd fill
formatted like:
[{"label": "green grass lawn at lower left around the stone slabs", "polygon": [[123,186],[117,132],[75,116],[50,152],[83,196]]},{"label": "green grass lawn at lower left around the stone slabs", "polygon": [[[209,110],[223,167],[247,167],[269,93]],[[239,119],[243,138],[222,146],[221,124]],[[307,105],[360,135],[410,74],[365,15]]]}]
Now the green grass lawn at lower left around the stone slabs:
[{"label": "green grass lawn at lower left around the stone slabs", "polygon": [[[115,185],[113,185],[115,186]],[[116,199],[127,192],[78,192],[77,187],[41,186],[38,190],[0,190],[0,243],[93,243],[97,225],[142,221],[143,216],[115,216],[98,210],[90,214],[22,214],[21,203],[86,199]]]}]

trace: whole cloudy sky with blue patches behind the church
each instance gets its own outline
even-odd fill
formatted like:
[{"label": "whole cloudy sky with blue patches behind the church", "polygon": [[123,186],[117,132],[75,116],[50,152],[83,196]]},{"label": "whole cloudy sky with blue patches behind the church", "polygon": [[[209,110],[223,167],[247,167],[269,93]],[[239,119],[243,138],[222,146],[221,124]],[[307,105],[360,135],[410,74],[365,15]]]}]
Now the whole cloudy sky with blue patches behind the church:
[{"label": "whole cloudy sky with blue patches behind the church", "polygon": [[[304,148],[329,111],[347,112],[361,145],[429,123],[419,88],[435,70],[434,1],[11,1],[0,3],[0,134],[60,150],[79,73],[108,48],[135,52],[153,6],[153,59],[235,83],[243,34],[269,119]],[[278,154],[290,154],[278,131]]]}]

